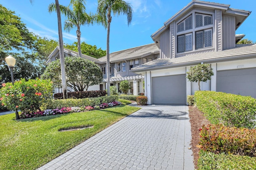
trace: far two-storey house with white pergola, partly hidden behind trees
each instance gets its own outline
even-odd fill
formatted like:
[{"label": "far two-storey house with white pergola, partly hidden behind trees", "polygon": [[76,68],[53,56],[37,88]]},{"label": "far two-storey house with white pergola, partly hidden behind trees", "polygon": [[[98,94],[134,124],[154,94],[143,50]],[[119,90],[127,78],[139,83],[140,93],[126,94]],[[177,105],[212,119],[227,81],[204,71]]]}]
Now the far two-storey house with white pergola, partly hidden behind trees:
[{"label": "far two-storey house with white pergola, partly hidden behind trees", "polygon": [[[64,55],[78,57],[78,52],[64,48]],[[59,58],[59,47],[49,55],[46,64]],[[105,90],[106,89],[106,56],[99,59],[82,55],[82,58],[94,61],[103,73],[103,81],[99,85],[90,86],[88,90]],[[127,80],[130,83],[128,94],[138,95],[144,93],[143,81],[144,76],[131,71],[133,67],[153,61],[159,58],[159,49],[155,43],[142,45],[130,49],[124,49],[110,53],[110,85],[116,85],[120,91],[120,82]],[[71,88],[68,88],[72,91]],[[62,89],[55,88],[54,93],[61,93]]]}]

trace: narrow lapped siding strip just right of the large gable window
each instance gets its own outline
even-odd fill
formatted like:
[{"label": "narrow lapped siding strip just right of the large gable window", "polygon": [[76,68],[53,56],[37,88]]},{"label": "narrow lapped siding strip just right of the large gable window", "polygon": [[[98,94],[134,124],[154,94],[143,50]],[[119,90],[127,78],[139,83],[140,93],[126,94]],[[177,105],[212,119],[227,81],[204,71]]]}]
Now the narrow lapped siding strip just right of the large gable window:
[{"label": "narrow lapped siding strip just right of the large gable window", "polygon": [[222,51],[222,12],[215,10],[216,20],[216,51]]}]

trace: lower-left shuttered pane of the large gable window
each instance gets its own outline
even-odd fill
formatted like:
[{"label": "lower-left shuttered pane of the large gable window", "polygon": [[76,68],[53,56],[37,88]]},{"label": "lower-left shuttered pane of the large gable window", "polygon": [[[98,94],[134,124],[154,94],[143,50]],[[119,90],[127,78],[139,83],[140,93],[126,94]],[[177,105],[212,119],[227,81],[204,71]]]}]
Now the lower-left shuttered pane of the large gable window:
[{"label": "lower-left shuttered pane of the large gable window", "polygon": [[192,50],[192,33],[177,37],[178,53]]}]

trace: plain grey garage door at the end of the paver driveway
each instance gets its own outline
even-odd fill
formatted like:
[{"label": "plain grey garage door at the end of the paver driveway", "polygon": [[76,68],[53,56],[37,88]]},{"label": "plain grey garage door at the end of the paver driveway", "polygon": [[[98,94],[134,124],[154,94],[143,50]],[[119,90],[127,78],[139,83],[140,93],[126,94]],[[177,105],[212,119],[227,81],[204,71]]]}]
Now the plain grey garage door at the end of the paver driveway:
[{"label": "plain grey garage door at the end of the paver driveway", "polygon": [[186,74],[152,77],[153,104],[186,104]]}]

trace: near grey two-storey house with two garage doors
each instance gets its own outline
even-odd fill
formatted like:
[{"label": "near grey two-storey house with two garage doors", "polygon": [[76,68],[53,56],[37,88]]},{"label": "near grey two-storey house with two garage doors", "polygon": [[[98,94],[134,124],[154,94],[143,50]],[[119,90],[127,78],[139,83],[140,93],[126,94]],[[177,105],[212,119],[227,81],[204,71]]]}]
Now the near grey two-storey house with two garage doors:
[{"label": "near grey two-storey house with two garage doors", "polygon": [[192,0],[164,22],[151,36],[159,59],[132,68],[144,76],[148,104],[186,104],[186,96],[198,90],[186,72],[198,63],[209,63],[214,71],[202,90],[256,98],[256,45],[236,45],[244,35],[235,34],[250,13]]}]

